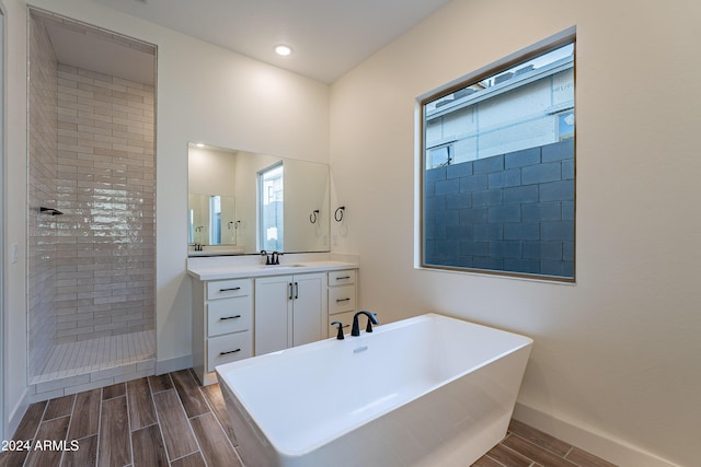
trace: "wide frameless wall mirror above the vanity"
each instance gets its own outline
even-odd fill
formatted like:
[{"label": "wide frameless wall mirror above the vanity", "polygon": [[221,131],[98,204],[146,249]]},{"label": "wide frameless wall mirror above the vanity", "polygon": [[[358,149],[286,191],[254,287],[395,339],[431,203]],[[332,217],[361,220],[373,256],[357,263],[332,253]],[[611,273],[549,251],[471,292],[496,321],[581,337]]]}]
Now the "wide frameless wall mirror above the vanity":
[{"label": "wide frameless wall mirror above the vanity", "polygon": [[188,144],[189,256],[329,252],[329,166]]}]

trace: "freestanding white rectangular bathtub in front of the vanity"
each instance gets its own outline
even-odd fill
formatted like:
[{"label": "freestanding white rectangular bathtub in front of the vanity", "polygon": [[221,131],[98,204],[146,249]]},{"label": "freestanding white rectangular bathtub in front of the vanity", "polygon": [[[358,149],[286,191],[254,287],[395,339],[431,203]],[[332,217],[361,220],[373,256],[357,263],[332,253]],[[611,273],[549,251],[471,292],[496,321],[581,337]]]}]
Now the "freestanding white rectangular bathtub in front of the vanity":
[{"label": "freestanding white rectangular bathtub in front of the vanity", "polygon": [[506,435],[531,346],[427,314],[217,375],[245,467],[468,467]]}]

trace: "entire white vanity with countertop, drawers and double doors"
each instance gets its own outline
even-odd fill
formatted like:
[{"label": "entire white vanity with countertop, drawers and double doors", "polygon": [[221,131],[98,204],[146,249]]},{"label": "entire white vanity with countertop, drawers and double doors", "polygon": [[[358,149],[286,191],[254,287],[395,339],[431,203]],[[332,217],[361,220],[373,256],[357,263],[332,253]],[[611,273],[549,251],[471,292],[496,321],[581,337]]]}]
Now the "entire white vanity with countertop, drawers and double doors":
[{"label": "entire white vanity with countertop, drawers and double doors", "polygon": [[203,385],[217,382],[217,365],[335,337],[332,320],[353,320],[357,258],[273,267],[248,259],[187,259],[193,367]]}]

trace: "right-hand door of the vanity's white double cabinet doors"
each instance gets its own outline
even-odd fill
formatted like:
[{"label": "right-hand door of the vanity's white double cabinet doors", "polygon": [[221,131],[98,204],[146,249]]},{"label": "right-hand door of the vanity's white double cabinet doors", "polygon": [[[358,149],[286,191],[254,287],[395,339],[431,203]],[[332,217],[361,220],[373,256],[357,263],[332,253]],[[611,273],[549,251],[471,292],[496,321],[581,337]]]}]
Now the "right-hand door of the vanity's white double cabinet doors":
[{"label": "right-hand door of the vanity's white double cabinet doors", "polygon": [[326,337],[326,275],[297,275],[294,278],[292,346]]}]

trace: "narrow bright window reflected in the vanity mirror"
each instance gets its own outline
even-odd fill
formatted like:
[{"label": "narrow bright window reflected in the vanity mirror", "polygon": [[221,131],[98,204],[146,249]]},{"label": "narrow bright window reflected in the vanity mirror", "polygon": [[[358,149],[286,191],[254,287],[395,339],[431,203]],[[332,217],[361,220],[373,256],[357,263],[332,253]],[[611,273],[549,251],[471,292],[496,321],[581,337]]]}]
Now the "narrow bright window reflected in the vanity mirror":
[{"label": "narrow bright window reflected in the vanity mirror", "polygon": [[269,252],[283,252],[283,164],[258,173],[261,247]]}]

